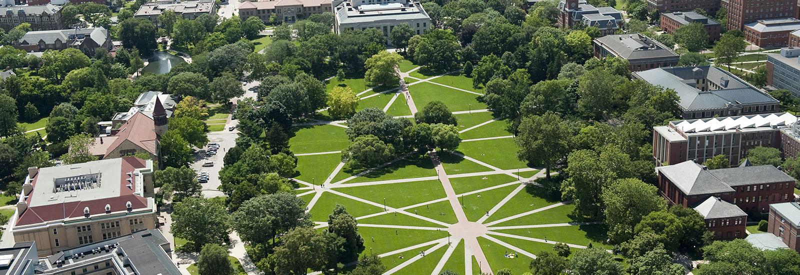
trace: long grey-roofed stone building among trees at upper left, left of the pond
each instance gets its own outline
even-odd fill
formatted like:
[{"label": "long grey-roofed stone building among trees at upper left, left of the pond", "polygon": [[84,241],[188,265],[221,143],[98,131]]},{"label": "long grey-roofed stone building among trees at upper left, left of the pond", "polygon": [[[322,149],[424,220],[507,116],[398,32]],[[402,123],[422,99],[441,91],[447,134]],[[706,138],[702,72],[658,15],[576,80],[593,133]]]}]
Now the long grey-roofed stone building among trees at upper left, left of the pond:
[{"label": "long grey-roofed stone building among trees at upper left, left of the pond", "polygon": [[29,53],[75,48],[91,56],[97,49],[111,50],[111,36],[102,26],[89,29],[36,30],[27,32],[12,46]]}]

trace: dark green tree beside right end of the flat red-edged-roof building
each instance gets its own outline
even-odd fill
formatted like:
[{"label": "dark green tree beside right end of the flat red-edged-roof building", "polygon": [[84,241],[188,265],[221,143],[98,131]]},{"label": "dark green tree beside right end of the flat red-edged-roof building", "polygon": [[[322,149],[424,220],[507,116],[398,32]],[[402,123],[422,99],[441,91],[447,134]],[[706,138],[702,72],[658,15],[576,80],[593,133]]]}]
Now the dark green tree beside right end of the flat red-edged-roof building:
[{"label": "dark green tree beside right end of the flat red-edged-roof building", "polygon": [[174,192],[171,196],[174,202],[182,201],[186,197],[198,197],[202,194],[202,185],[198,182],[197,173],[188,166],[166,167],[166,169],[155,171],[154,180],[156,186],[162,186],[162,189],[167,186],[166,189]]}]

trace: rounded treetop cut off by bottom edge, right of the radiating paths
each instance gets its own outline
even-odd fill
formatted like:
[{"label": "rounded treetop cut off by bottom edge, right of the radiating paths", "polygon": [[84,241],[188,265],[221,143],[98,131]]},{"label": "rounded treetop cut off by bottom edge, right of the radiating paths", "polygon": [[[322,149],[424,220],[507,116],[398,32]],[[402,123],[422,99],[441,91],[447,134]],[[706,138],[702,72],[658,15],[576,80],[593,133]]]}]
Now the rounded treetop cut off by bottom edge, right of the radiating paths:
[{"label": "rounded treetop cut off by bottom edge, right of the radiating paths", "polygon": [[576,275],[624,274],[622,264],[618,261],[614,261],[614,256],[611,253],[599,247],[578,250],[572,259],[570,259],[568,269],[570,269],[570,274]]}]

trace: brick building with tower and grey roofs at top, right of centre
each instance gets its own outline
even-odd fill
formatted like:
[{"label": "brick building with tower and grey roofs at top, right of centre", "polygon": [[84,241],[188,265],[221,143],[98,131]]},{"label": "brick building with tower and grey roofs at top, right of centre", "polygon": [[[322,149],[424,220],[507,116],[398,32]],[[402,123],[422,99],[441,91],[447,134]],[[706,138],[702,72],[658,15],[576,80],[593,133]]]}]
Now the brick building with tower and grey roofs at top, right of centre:
[{"label": "brick building with tower and grey roofs at top, right of centre", "polygon": [[610,6],[595,7],[586,0],[562,0],[558,2],[558,26],[571,28],[581,24],[595,26],[600,34],[614,34],[622,26],[622,13]]}]

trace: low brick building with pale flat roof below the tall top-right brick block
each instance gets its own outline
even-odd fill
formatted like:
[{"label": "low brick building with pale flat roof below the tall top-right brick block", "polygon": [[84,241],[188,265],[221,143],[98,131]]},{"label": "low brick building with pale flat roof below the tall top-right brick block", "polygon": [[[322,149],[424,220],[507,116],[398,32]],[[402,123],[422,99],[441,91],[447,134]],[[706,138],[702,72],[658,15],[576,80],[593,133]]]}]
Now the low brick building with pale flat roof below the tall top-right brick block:
[{"label": "low brick building with pale flat roof below the tall top-right brick block", "polygon": [[789,46],[790,33],[800,30],[796,18],[763,19],[745,24],[745,39],[755,46],[774,49]]}]

